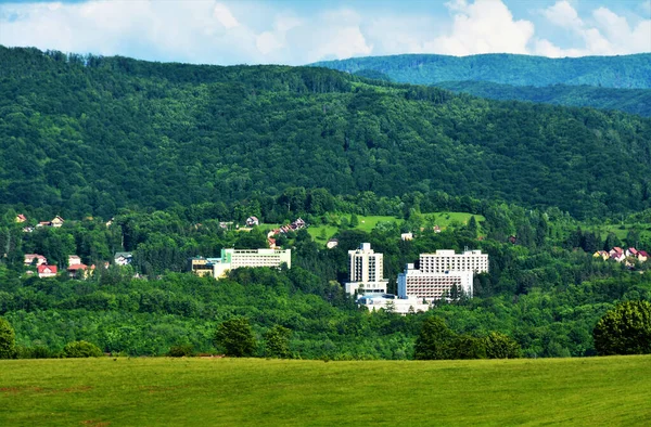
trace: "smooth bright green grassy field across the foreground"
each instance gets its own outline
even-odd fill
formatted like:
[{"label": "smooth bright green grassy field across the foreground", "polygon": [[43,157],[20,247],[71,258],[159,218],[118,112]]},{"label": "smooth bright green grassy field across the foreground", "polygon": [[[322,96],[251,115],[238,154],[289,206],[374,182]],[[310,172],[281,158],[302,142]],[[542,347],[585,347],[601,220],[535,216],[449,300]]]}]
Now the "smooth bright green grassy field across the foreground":
[{"label": "smooth bright green grassy field across the foreground", "polygon": [[650,366],[648,355],[0,361],[0,425],[648,425]]}]

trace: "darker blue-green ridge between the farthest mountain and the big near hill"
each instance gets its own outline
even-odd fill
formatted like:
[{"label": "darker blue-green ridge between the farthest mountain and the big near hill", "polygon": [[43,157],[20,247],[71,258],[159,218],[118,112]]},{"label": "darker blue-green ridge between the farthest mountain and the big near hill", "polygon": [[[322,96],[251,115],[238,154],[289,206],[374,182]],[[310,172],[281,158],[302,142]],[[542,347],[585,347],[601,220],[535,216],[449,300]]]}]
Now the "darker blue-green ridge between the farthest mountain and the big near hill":
[{"label": "darker blue-green ridge between the farthest mountain and the big near hill", "polygon": [[438,88],[492,100],[532,101],[546,104],[618,109],[651,116],[651,89],[614,89],[593,86],[553,85],[544,88],[494,83],[492,81],[443,81]]}]

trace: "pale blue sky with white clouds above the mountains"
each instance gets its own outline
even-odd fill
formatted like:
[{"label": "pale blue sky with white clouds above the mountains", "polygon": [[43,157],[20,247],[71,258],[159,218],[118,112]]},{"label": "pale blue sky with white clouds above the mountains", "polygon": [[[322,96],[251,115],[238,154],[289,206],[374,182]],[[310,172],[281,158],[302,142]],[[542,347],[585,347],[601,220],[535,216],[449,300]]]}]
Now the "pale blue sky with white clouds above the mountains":
[{"label": "pale blue sky with white clouds above the mountains", "polygon": [[0,0],[0,44],[193,64],[651,52],[651,0]]}]

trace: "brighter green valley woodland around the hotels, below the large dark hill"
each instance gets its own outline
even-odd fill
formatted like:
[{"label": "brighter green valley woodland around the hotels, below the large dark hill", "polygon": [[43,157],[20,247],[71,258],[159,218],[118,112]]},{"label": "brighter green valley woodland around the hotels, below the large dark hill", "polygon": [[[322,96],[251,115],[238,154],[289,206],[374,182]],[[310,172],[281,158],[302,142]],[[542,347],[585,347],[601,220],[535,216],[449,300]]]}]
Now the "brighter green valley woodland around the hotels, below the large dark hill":
[{"label": "brighter green valley woodland around the hotels, below the large dark hill", "polygon": [[[335,198],[329,207],[353,214],[371,207],[386,214],[384,209],[393,209],[396,202],[380,198],[365,206],[370,196]],[[289,215],[333,223],[335,211],[310,214],[316,208],[310,199],[309,192],[303,204],[295,197]],[[418,197],[403,199],[398,206],[407,205],[407,211],[401,225],[379,223],[370,233],[362,232],[344,225],[340,211],[333,223],[340,228],[337,247],[326,249],[301,230],[279,240],[292,248],[292,269],[238,269],[219,281],[184,273],[187,257],[216,255],[221,247],[263,247],[267,229],[224,230],[209,219],[216,207],[202,205],[151,214],[125,210],[110,227],[87,219],[24,233],[10,210],[0,224],[2,246],[8,245],[5,236],[11,240],[10,253],[0,259],[0,315],[15,328],[22,357],[55,354],[79,339],[114,354],[159,355],[173,346],[188,345],[210,353],[217,351],[213,344],[217,325],[245,316],[260,342],[275,326],[289,328],[296,358],[411,359],[423,321],[434,315],[456,334],[506,334],[522,347],[524,357],[533,358],[595,354],[591,332],[609,309],[617,301],[651,300],[646,263],[630,269],[592,257],[593,250],[611,245],[651,247],[635,233],[620,242],[612,234],[582,231],[558,209],[525,210],[474,199],[470,202],[484,212],[485,221],[452,223],[435,233],[431,228],[435,219],[420,212]],[[284,205],[286,198],[270,202]],[[450,198],[450,206],[459,202]],[[228,218],[240,208],[234,205],[220,215]],[[413,231],[416,238],[401,241],[405,231]],[[515,244],[507,238],[511,234],[519,236]],[[348,272],[347,250],[360,242],[384,254],[385,275],[394,290],[406,262],[442,248],[481,248],[489,254],[489,273],[475,277],[472,299],[459,295],[430,312],[406,316],[368,312],[340,284]],[[34,267],[25,267],[22,257],[43,254],[65,269],[71,254],[102,266],[123,248],[133,251],[131,266],[99,268],[88,279],[65,273],[39,279],[26,274]],[[256,354],[266,354],[264,344]]]}]

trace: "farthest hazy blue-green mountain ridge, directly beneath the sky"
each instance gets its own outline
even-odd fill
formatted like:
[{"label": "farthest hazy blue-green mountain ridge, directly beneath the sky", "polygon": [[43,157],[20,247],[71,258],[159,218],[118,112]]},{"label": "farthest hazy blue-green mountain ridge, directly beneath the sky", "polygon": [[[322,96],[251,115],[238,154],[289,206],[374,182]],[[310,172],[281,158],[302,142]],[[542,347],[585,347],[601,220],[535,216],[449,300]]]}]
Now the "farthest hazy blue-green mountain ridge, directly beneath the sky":
[{"label": "farthest hazy blue-green mountain ridge, directly beneath the sky", "polygon": [[470,56],[404,54],[323,61],[312,65],[347,73],[370,69],[394,81],[416,85],[472,80],[512,86],[562,83],[651,89],[651,53],[564,59],[507,53]]}]

